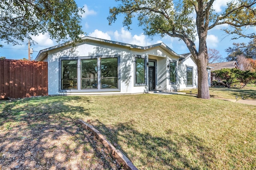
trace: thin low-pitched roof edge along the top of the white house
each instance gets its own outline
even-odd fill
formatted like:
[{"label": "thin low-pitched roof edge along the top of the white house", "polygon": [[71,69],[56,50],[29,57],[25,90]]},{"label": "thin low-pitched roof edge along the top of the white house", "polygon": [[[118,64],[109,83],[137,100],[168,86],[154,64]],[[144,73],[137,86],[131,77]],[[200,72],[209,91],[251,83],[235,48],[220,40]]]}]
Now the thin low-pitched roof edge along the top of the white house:
[{"label": "thin low-pitched roof edge along the top of the white house", "polygon": [[[110,41],[110,40],[103,40],[100,38],[93,38],[93,37],[89,37],[89,36],[85,36],[82,38],[83,42],[86,42],[86,40],[91,40],[91,41],[96,41],[96,42],[103,42],[103,43],[110,43],[113,45],[121,45],[124,47],[129,47],[130,49],[138,49],[138,50],[146,50],[146,49],[150,49],[150,48],[154,48],[154,47],[161,47],[162,49],[164,49],[165,51],[167,51],[168,53],[170,53],[171,55],[174,55],[176,57],[184,57],[183,55],[178,55],[177,53],[175,53],[172,49],[170,49],[167,45],[165,45],[164,43],[157,43],[154,45],[148,45],[146,47],[142,47],[139,45],[132,45],[132,44],[128,44],[128,43],[120,43],[120,42],[114,42],[114,41]],[[55,45],[53,47],[49,47],[46,49],[42,49],[39,51],[38,55],[35,58],[35,61],[42,61],[44,59],[44,57],[46,57],[46,55],[48,54],[48,51],[60,48],[60,47],[64,47],[64,46],[70,46],[71,42],[67,42],[67,43],[62,43],[59,45]]]}]

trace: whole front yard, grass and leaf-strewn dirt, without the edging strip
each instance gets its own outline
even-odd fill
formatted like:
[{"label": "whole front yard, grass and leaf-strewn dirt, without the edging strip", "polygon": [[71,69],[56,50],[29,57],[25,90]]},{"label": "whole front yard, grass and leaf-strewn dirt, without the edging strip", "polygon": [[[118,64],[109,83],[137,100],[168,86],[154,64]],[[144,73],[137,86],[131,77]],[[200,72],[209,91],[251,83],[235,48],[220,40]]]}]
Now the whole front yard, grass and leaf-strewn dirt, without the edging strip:
[{"label": "whole front yard, grass and leaf-strewn dirt, without the edging strip", "polygon": [[154,94],[0,101],[0,168],[18,166],[15,149],[26,150],[25,162],[34,156],[32,168],[113,169],[76,119],[90,120],[138,169],[256,169],[256,106]]}]

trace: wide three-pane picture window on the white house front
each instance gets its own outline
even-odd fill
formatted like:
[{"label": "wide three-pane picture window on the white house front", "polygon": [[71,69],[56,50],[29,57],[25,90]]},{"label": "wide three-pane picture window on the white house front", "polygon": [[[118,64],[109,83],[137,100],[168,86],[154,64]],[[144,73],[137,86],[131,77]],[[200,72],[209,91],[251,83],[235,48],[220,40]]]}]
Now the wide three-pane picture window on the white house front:
[{"label": "wide three-pane picture window on the white house front", "polygon": [[120,56],[60,59],[60,91],[120,91]]}]

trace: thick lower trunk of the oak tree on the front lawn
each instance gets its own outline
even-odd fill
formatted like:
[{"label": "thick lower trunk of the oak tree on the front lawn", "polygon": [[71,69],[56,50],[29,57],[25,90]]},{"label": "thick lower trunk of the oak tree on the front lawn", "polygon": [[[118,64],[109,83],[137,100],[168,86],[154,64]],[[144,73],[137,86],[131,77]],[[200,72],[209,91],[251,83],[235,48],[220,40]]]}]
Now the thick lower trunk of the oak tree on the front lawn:
[{"label": "thick lower trunk of the oak tree on the front lawn", "polygon": [[208,85],[208,72],[207,61],[205,61],[204,53],[198,55],[197,73],[198,73],[198,98],[210,99],[209,85]]}]

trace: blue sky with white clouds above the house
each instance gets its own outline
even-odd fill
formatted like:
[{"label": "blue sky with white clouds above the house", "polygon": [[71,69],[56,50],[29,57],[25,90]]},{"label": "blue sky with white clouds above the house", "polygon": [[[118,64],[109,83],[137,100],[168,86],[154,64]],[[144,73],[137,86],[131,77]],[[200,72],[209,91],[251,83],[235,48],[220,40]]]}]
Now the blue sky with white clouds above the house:
[{"label": "blue sky with white clouds above the house", "polygon": [[[216,0],[214,2],[214,9],[216,12],[221,13],[226,8],[226,2],[229,0]],[[83,7],[86,11],[82,15],[82,26],[86,36],[102,38],[106,40],[112,40],[122,43],[136,44],[141,46],[152,45],[156,43],[163,42],[173,51],[178,54],[188,53],[188,49],[183,41],[179,41],[178,38],[171,38],[166,36],[160,38],[160,36],[154,37],[153,40],[148,38],[143,34],[141,27],[138,27],[138,22],[134,18],[134,23],[132,24],[132,30],[127,30],[122,26],[122,16],[119,16],[117,21],[111,26],[108,25],[107,16],[109,15],[109,8],[116,6],[118,3],[115,0],[76,0],[79,7]],[[231,40],[232,36],[227,36],[220,29],[225,28],[226,25],[217,26],[212,30],[208,31],[207,46],[208,48],[214,48],[220,51],[223,57],[227,56],[225,49],[232,47],[232,43],[248,43],[250,39],[240,38],[239,40]],[[256,32],[255,28],[250,28],[250,31]],[[54,40],[50,40],[48,34],[40,34],[39,36],[33,37],[38,44],[31,45],[33,47],[34,53],[32,58],[35,59],[38,52],[42,49],[52,47],[57,45]],[[11,44],[6,44],[0,42],[4,45],[0,48],[0,56],[4,56],[7,59],[22,59],[28,58],[28,42],[24,42],[22,45],[12,46]],[[196,40],[196,45],[198,47],[198,40]]]}]

